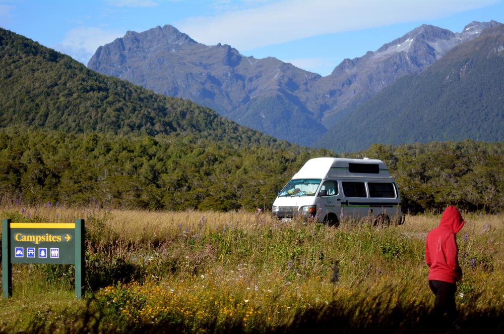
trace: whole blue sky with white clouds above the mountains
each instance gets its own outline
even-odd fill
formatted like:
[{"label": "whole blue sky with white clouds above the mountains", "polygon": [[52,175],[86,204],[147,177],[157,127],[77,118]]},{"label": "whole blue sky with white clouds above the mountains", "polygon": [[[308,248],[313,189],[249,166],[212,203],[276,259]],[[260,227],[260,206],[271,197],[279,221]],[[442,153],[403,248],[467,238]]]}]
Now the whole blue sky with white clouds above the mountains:
[{"label": "whole blue sky with white clouds above the mountains", "polygon": [[197,42],[322,76],[422,24],[461,32],[491,20],[504,23],[504,0],[0,0],[0,27],[85,65],[129,30],[170,24]]}]

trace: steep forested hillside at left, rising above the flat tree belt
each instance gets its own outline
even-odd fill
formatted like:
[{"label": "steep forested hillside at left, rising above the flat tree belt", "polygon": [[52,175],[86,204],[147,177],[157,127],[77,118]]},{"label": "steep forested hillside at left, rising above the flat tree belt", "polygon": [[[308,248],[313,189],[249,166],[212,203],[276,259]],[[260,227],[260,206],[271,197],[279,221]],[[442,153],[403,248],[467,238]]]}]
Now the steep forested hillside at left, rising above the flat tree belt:
[{"label": "steep forested hillside at left, rising above the flat tree belt", "polygon": [[154,94],[88,70],[68,55],[1,28],[0,105],[1,127],[120,135],[175,133],[232,146],[290,147],[189,100]]}]

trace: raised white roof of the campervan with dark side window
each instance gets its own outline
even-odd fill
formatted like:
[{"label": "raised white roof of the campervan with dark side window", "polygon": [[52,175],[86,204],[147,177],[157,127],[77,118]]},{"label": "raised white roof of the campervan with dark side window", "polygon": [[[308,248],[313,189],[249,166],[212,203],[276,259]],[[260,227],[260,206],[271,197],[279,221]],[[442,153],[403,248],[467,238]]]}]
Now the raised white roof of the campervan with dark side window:
[{"label": "raised white roof of the campervan with dark side window", "polygon": [[392,179],[382,160],[314,158],[309,159],[292,179],[380,178]]}]

